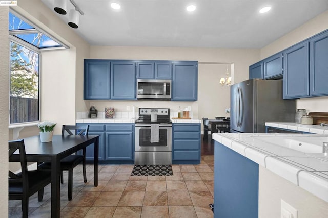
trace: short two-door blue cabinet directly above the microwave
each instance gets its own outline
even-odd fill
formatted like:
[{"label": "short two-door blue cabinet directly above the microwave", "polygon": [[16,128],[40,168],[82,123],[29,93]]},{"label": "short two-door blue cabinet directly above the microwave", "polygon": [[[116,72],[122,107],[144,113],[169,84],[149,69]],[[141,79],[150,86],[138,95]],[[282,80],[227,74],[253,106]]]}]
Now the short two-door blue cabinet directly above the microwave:
[{"label": "short two-door blue cabinet directly above the microwave", "polygon": [[138,79],[172,79],[171,61],[138,61]]}]

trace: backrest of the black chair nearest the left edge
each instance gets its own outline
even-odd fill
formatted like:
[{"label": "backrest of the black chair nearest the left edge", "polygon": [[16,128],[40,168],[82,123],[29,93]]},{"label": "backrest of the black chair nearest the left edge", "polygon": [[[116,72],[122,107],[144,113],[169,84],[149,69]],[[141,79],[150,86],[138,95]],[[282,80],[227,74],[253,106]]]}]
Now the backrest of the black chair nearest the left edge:
[{"label": "backrest of the black chair nearest the left edge", "polygon": [[[16,155],[19,156],[20,169],[22,170],[19,174],[15,174],[12,171],[8,171],[9,183],[21,182],[23,190],[28,190],[28,173],[27,173],[27,161],[24,140],[9,141],[9,162],[17,162]],[[14,154],[18,150],[19,154]]]}]

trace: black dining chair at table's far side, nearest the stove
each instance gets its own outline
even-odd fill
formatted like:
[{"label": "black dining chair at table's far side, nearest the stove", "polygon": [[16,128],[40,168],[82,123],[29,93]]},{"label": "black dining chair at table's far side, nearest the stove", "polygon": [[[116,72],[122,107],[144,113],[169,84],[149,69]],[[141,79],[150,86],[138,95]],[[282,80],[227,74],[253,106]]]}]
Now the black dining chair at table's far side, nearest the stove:
[{"label": "black dining chair at table's far side, nearest the stove", "polygon": [[[61,135],[88,135],[89,125],[63,125]],[[68,171],[68,200],[72,200],[73,196],[73,168],[82,162],[83,180],[87,182],[86,173],[86,148],[82,149],[82,155],[72,154],[60,160],[60,182],[64,183],[63,171]],[[42,163],[38,165],[41,169],[51,169],[50,163]]]}]

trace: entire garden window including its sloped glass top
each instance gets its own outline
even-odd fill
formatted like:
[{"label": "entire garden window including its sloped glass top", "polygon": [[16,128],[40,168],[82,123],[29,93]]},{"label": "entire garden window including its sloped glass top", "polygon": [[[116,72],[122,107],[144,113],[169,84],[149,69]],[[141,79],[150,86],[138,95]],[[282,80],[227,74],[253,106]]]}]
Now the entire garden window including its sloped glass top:
[{"label": "entire garden window including its sloped glass top", "polygon": [[38,122],[40,52],[46,49],[65,49],[67,46],[12,12],[9,13],[9,39],[9,124]]}]

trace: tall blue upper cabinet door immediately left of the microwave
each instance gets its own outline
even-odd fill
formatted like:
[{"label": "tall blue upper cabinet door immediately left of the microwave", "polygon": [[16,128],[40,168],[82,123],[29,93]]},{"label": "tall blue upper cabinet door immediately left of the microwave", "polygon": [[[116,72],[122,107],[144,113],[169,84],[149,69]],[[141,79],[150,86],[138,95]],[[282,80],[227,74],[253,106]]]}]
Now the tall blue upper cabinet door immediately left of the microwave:
[{"label": "tall blue upper cabinet door immediately left of the microwave", "polygon": [[136,70],[134,61],[111,62],[111,99],[136,100]]}]

